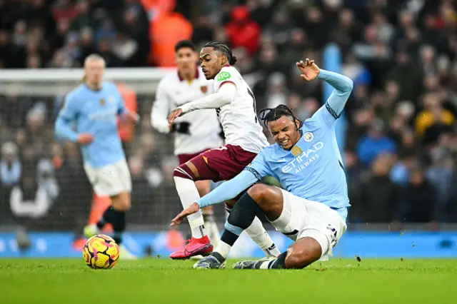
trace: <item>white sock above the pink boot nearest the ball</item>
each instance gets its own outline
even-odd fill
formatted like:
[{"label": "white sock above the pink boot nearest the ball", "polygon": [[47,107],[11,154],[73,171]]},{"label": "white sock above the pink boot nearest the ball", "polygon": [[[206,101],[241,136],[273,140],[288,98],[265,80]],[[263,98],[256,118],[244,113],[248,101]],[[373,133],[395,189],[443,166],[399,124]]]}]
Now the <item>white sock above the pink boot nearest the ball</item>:
[{"label": "white sock above the pink boot nearest the ball", "polygon": [[[199,191],[197,190],[194,181],[174,176],[174,182],[176,185],[176,191],[178,191],[178,195],[184,209],[191,206],[192,203],[195,203],[200,198]],[[187,217],[187,219],[189,220],[189,225],[191,226],[192,236],[194,238],[203,238],[206,235],[206,231],[201,211],[191,214]]]}]

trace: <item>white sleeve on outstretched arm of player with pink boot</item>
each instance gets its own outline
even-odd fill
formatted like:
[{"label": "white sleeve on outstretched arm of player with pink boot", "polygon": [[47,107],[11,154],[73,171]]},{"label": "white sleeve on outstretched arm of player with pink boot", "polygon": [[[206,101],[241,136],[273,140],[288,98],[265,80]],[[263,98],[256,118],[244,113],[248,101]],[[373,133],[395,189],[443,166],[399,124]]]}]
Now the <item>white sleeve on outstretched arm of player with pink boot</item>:
[{"label": "white sleeve on outstretched arm of player with pink boot", "polygon": [[179,108],[182,109],[183,114],[195,110],[201,110],[203,108],[221,108],[221,106],[231,103],[235,97],[236,85],[234,83],[227,82],[220,86],[219,91],[216,93],[197,99],[196,101],[186,103]]}]

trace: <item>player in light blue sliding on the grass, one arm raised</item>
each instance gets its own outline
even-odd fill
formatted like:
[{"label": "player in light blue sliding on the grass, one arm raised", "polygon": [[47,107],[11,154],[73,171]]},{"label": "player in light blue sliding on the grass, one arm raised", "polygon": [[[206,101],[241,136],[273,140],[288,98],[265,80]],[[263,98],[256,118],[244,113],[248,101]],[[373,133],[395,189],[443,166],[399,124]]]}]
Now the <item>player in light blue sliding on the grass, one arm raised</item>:
[{"label": "player in light blue sliding on the grass, one arm raised", "polygon": [[[333,93],[302,126],[287,106],[261,111],[260,118],[276,143],[263,149],[238,176],[174,218],[172,226],[199,208],[234,198],[248,188],[233,207],[216,250],[194,268],[223,268],[231,246],[258,213],[295,243],[277,258],[242,261],[234,268],[304,268],[316,260],[328,260],[345,233],[350,204],[335,126],[353,82],[319,69],[309,59],[297,67],[305,81],[326,81]],[[263,176],[273,176],[283,189],[260,183],[252,186]]]}]

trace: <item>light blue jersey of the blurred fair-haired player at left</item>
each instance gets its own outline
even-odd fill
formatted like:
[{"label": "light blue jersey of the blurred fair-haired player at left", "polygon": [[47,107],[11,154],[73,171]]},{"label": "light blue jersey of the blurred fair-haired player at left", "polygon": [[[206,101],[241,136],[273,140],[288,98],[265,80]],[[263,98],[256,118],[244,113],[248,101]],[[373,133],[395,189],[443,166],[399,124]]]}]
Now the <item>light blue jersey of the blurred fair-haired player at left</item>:
[{"label": "light blue jersey of the blurred fair-haired player at left", "polygon": [[104,82],[100,90],[81,84],[66,96],[55,133],[74,142],[79,133],[90,133],[94,141],[81,146],[84,163],[94,168],[111,165],[125,158],[117,126],[118,116],[125,112],[124,101],[114,83]]}]

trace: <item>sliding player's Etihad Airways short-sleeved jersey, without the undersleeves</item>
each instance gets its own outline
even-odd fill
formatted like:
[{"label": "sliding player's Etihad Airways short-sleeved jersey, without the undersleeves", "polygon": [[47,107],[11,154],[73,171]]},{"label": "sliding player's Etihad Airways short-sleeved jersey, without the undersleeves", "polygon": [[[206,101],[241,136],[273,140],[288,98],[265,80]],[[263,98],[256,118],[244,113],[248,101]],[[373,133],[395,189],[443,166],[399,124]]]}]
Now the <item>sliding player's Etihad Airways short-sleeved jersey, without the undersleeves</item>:
[{"label": "sliding player's Etihad Airways short-sleeved jersey, without the undersleeves", "polygon": [[326,103],[300,128],[291,151],[277,143],[265,148],[245,170],[259,180],[273,176],[284,190],[334,209],[351,206],[343,161],[336,143],[336,118]]}]

